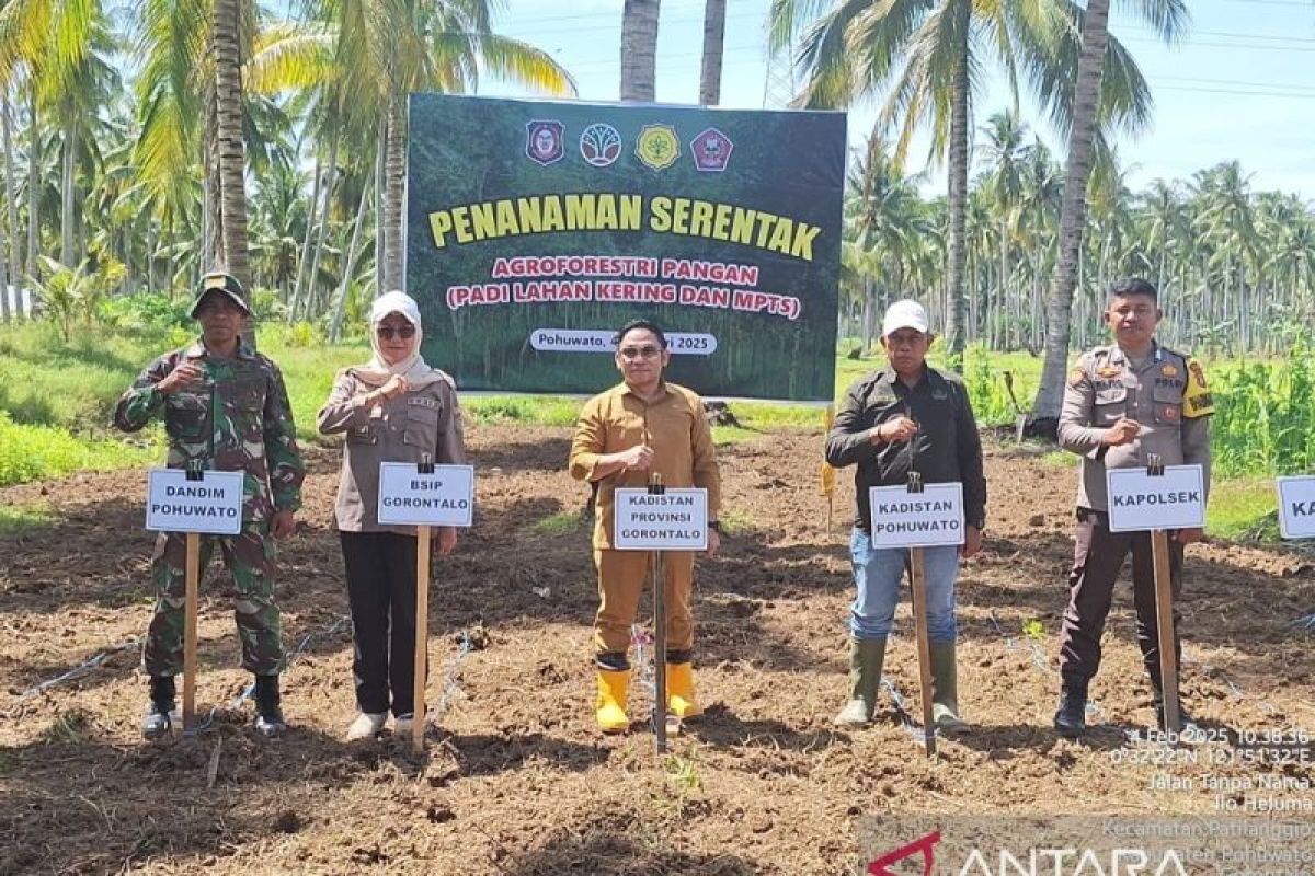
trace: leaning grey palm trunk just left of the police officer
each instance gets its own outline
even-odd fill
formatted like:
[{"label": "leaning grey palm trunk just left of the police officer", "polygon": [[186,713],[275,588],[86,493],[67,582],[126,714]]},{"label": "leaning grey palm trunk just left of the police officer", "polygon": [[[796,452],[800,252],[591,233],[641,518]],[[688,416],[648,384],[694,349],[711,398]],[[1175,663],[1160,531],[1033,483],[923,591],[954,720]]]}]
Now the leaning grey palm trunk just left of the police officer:
[{"label": "leaning grey palm trunk just left of the police officer", "polygon": [[1095,139],[1095,109],[1105,71],[1109,39],[1110,0],[1088,0],[1082,16],[1082,54],[1077,62],[1073,100],[1073,127],[1069,131],[1068,176],[1060,211],[1059,261],[1048,305],[1045,364],[1036,390],[1032,412],[1038,418],[1059,418],[1068,373],[1069,324],[1077,261],[1082,255],[1082,223],[1086,221],[1086,184],[1091,175]]}]

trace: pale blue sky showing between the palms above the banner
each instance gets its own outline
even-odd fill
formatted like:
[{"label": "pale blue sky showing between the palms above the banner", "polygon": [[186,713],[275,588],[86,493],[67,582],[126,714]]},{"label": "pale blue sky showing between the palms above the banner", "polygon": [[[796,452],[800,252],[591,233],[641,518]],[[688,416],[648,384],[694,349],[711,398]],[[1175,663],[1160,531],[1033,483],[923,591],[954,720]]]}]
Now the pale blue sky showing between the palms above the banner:
[{"label": "pale blue sky showing between the palms above the banner", "polygon": [[[765,20],[769,0],[729,0],[722,105],[780,106],[788,70],[773,64],[768,87]],[[1240,160],[1256,190],[1295,192],[1315,201],[1315,0],[1189,0],[1191,24],[1177,46],[1165,46],[1131,14],[1135,3],[1114,0],[1110,32],[1141,67],[1155,100],[1151,127],[1120,137],[1120,162],[1134,190],[1160,177],[1190,179],[1220,162]],[[494,30],[548,51],[575,77],[580,99],[613,101],[621,79],[622,0],[506,0]],[[658,101],[698,100],[704,0],[663,0],[658,30]],[[488,96],[523,97],[525,89],[488,80]],[[973,108],[981,126],[1010,105],[1002,76],[993,76]],[[876,121],[878,101],[851,108],[849,141],[857,144]],[[1023,120],[1056,156],[1064,144],[1028,95]],[[910,150],[922,169],[926,139]],[[932,171],[927,186],[944,186]]]}]

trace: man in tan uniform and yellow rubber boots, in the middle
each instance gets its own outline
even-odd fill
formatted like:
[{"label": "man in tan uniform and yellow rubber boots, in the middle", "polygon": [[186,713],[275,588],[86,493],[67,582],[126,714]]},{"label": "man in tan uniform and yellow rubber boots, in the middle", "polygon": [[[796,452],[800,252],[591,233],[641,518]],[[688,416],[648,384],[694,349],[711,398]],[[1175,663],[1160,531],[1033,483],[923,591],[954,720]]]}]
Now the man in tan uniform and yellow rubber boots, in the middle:
[{"label": "man in tan uniform and yellow rubber boots, in the middle", "polygon": [[[646,319],[627,323],[617,334],[617,369],[623,381],[590,398],[580,412],[571,444],[571,477],[597,490],[593,558],[598,567],[598,613],[593,626],[598,668],[596,718],[604,733],[630,728],[626,693],[630,687],[630,625],[639,607],[648,570],[648,553],[613,550],[613,494],[617,487],[643,487],[648,475],[663,475],[668,487],[707,490],[707,554],[721,545],[717,512],[721,474],[713,433],[702,399],[684,386],[661,378],[671,362],[661,328]],[[689,609],[694,556],[664,553],[667,600],[667,695],[677,717],[692,718],[702,709],[694,696],[690,666],[694,621]]]}]

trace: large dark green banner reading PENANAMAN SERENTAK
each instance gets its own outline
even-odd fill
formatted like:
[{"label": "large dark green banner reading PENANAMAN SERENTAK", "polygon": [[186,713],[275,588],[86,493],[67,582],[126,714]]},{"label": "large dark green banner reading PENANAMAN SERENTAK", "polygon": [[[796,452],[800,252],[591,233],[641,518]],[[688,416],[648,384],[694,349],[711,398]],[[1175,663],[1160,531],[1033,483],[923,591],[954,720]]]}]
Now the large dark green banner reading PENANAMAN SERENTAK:
[{"label": "large dark green banner reading PENANAMAN SERENTAK", "polygon": [[707,397],[830,402],[840,113],[413,95],[406,289],[463,390],[596,393],[626,320]]}]

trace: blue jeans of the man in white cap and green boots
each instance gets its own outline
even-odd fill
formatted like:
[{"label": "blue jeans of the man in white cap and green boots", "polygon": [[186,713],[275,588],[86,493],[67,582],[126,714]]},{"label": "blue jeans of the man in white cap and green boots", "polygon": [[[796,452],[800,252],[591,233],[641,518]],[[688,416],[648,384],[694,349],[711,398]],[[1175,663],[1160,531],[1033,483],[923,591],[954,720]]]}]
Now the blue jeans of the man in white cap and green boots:
[{"label": "blue jeans of the man in white cap and green boots", "polygon": [[[855,529],[849,538],[849,559],[857,588],[849,633],[859,640],[886,638],[896,616],[896,603],[899,602],[899,583],[909,552],[874,549],[872,537],[863,529]],[[927,637],[932,642],[953,642],[957,634],[955,579],[959,577],[959,548],[923,548],[923,566],[927,573]]]}]

